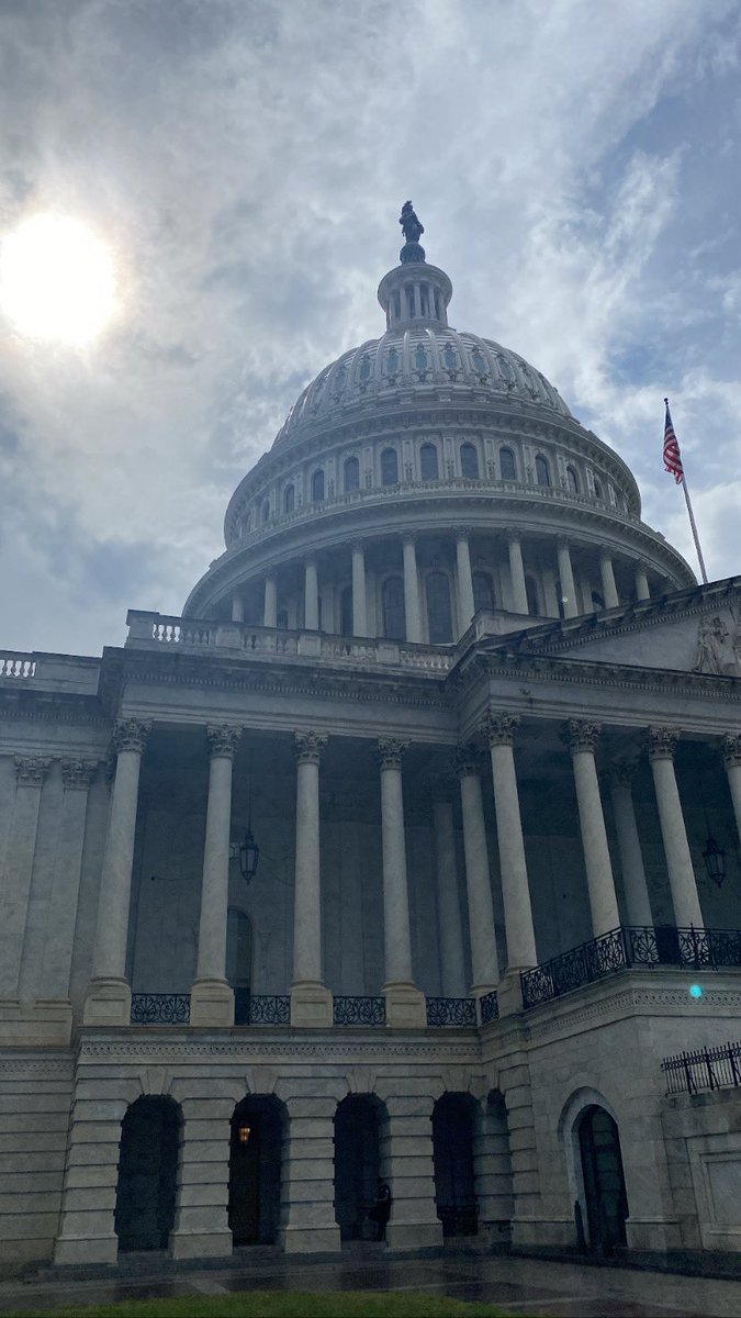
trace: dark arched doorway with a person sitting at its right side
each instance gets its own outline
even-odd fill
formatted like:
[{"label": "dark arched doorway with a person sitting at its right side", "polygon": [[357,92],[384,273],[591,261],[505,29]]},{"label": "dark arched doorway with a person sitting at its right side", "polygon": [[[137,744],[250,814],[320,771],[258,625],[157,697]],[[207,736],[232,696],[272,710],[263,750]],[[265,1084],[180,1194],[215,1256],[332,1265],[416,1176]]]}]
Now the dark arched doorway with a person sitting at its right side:
[{"label": "dark arched doorway with a person sitting at its right side", "polygon": [[381,1174],[384,1104],[373,1094],[348,1094],[335,1112],[335,1220],[340,1240],[369,1235],[368,1210]]}]

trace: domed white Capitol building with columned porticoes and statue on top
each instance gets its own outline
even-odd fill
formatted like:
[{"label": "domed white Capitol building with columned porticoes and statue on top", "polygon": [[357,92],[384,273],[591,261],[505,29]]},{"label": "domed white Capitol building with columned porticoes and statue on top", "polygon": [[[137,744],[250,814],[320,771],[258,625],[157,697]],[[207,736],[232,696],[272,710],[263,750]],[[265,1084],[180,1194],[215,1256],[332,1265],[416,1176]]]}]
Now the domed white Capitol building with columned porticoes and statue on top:
[{"label": "domed white Capitol building with columned porticoes and statue on top", "polygon": [[182,616],[0,651],[8,1268],[741,1246],[741,579],[402,219]]}]

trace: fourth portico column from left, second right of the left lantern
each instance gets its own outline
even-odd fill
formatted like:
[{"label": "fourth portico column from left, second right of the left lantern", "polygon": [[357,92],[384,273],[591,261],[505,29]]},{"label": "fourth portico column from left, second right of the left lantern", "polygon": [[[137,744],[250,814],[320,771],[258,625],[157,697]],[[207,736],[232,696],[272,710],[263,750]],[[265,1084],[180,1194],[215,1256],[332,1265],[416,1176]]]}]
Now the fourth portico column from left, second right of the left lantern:
[{"label": "fourth portico column from left, second right of the left lantern", "polygon": [[384,858],[384,965],[386,1024],[423,1028],[427,1012],[423,994],[414,987],[411,936],[406,884],[406,840],[401,760],[406,742],[396,737],[378,741],[381,770],[381,850]]}]

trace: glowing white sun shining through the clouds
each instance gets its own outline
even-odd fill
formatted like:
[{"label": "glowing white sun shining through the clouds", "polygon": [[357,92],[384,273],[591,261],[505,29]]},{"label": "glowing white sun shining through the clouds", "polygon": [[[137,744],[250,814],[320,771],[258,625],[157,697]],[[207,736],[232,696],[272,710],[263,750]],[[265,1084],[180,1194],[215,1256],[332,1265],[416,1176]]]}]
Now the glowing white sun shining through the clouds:
[{"label": "glowing white sun shining through the clouds", "polygon": [[113,264],[80,220],[34,215],[3,241],[0,308],[18,333],[83,347],[113,310]]}]

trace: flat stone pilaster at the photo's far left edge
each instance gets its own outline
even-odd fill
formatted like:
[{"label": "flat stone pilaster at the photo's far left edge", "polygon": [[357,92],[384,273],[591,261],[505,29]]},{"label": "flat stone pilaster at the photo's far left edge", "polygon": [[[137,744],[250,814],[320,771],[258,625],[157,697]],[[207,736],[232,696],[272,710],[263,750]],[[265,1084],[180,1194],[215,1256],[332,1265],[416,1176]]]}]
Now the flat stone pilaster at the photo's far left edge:
[{"label": "flat stone pilaster at the photo's far left edge", "polygon": [[41,788],[50,763],[41,755],[16,755],[16,800],[3,875],[0,998],[18,996]]}]

